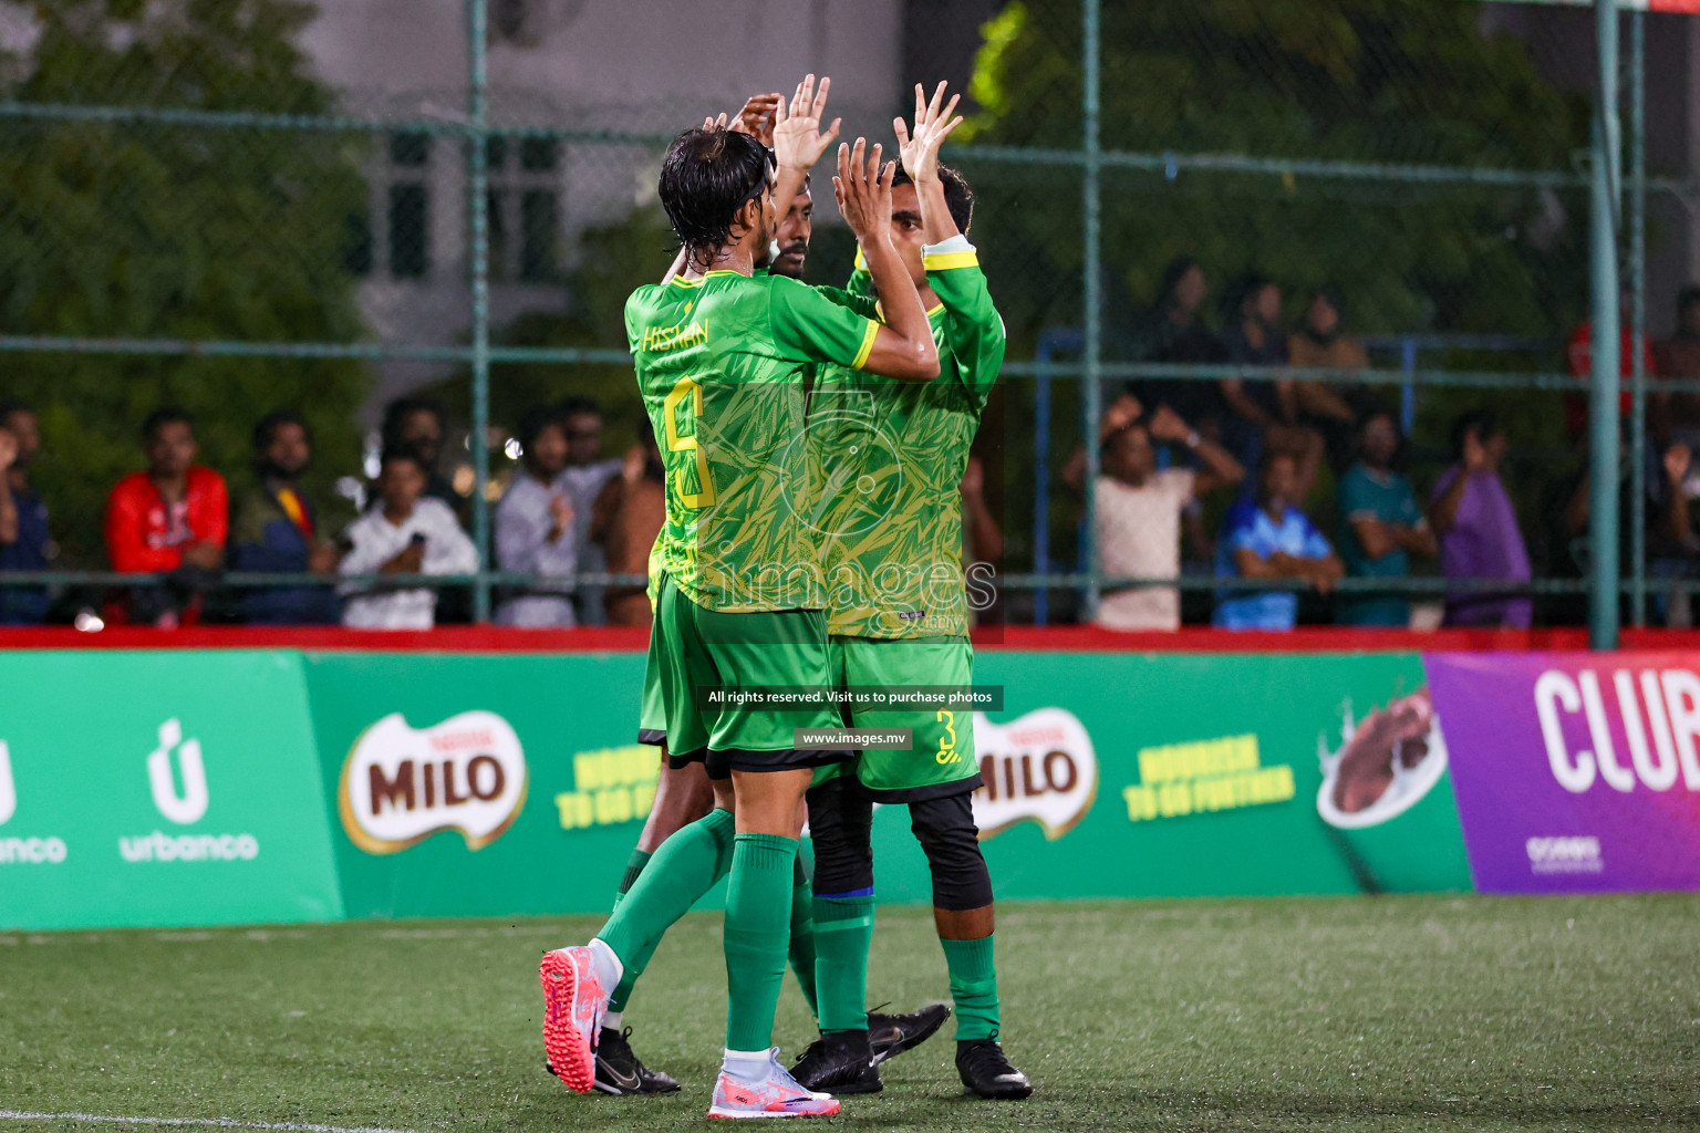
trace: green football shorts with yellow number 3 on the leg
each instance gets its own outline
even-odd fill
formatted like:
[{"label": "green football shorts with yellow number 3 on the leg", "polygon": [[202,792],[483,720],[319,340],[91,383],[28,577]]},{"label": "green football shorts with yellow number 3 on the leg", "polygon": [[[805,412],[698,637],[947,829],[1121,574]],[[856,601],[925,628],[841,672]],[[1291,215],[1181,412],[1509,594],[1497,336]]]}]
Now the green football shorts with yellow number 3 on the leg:
[{"label": "green football shorts with yellow number 3 on the leg", "polygon": [[[974,647],[966,637],[877,639],[833,634],[828,649],[836,685],[957,685],[974,683]],[[915,729],[911,751],[864,751],[853,764],[814,773],[824,783],[855,766],[857,778],[877,802],[903,803],[944,798],[979,788],[974,758],[974,713],[966,708],[899,712],[847,710],[858,729]]]}]

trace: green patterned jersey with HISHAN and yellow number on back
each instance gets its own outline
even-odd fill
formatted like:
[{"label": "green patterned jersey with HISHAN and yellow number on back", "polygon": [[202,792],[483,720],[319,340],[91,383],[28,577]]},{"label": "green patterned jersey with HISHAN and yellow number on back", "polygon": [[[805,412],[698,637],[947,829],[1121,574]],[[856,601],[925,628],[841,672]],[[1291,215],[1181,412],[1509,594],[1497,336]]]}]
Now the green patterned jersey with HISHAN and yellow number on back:
[{"label": "green patterned jersey with HISHAN and yellow number on back", "polygon": [[638,387],[666,464],[660,567],[699,606],[823,605],[806,518],[818,491],[804,375],[818,364],[858,372],[877,331],[780,275],[675,277],[626,301]]}]

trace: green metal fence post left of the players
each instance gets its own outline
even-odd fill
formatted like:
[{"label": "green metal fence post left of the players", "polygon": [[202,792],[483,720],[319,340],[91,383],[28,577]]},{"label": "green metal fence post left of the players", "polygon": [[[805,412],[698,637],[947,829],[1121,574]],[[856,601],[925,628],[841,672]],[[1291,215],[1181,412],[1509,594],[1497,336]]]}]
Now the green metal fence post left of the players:
[{"label": "green metal fence post left of the players", "polygon": [[488,0],[468,0],[468,185],[471,197],[473,287],[473,542],[478,544],[478,583],[473,586],[473,620],[490,620],[490,39]]}]

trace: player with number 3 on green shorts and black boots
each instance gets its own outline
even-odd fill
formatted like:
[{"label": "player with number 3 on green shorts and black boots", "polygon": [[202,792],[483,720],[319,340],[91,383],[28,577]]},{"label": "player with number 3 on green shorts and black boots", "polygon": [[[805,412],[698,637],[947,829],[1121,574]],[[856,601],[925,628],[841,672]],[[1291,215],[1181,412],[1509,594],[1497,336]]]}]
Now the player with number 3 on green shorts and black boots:
[{"label": "player with number 3 on green shorts and black boots", "polygon": [[[915,129],[894,122],[903,172],[892,190],[892,243],[910,268],[899,290],[930,307],[942,377],[898,386],[831,367],[814,394],[811,437],[836,467],[824,471],[816,525],[828,574],[835,676],[845,686],[971,686],[957,486],[986,397],[1003,364],[1003,321],[967,241],[972,194],[938,165],[955,129],[955,99],[928,102],[920,87]],[[889,307],[898,292],[867,284]],[[833,396],[840,404],[833,404]],[[809,790],[814,836],[816,999],[821,1038],[792,1068],[808,1089],[881,1087],[870,1058],[865,992],[874,919],[869,841],[874,802],[906,803],[933,877],[933,919],[957,1011],[957,1072],[981,1097],[1027,1097],[1032,1084],[998,1043],[991,875],[974,827],[979,786],[969,708],[852,708],[867,729],[913,729],[911,751],[869,751],[823,768]]]}]

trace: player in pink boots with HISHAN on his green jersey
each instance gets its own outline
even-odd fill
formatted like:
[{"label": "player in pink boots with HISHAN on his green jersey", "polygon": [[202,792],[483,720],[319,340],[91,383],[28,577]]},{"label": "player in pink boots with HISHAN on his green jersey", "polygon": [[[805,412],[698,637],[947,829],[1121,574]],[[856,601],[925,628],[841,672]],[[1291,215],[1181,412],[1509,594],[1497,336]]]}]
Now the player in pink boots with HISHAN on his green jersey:
[{"label": "player in pink boots with HISHAN on his green jersey", "polygon": [[[668,761],[704,763],[716,810],[670,837],[583,948],[544,956],[544,1046],[575,1091],[593,1084],[602,1016],[627,963],[729,873],[726,1051],[712,1116],[831,1114],[770,1046],[790,921],[799,802],[813,768],[847,753],[797,749],[826,708],[780,712],[724,690],[830,683],[818,547],[804,525],[804,374],[836,364],[928,382],[938,352],[891,243],[881,148],[840,146],[833,187],[862,243],[884,323],[796,280],[753,277],[777,226],[772,153],[748,134],[694,129],[661,166],[661,204],[688,248],[683,275],[626,306],[638,384],[666,462],[666,527],[649,664],[660,671]],[[700,691],[699,691],[700,690]]]}]

